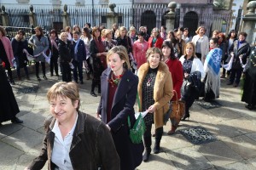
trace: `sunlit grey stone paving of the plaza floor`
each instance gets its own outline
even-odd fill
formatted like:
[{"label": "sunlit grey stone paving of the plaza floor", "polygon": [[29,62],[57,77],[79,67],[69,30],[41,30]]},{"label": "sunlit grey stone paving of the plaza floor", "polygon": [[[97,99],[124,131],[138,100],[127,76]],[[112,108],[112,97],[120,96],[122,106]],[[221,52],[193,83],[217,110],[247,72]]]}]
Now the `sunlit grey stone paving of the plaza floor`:
[{"label": "sunlit grey stone paving of the plaza floor", "polygon": [[[13,90],[20,106],[18,116],[24,123],[3,122],[0,127],[1,170],[24,169],[38,156],[44,137],[44,119],[49,115],[46,92],[57,81],[57,77],[41,82],[35,77],[30,81],[16,81]],[[226,86],[226,80],[222,80],[221,84],[221,96],[217,101],[222,106],[204,109],[194,104],[189,121],[180,122],[177,133],[172,136],[166,134],[170,129],[168,122],[164,127],[160,154],[152,154],[150,160],[137,169],[256,170],[256,111],[248,111],[241,103],[240,88]],[[84,85],[79,86],[81,111],[95,116],[100,98],[90,96],[90,81],[84,81]],[[32,87],[38,88],[38,91],[20,93],[20,88]],[[180,131],[194,126],[205,127],[217,139],[207,144],[190,143]],[[47,167],[44,166],[44,169]]]}]

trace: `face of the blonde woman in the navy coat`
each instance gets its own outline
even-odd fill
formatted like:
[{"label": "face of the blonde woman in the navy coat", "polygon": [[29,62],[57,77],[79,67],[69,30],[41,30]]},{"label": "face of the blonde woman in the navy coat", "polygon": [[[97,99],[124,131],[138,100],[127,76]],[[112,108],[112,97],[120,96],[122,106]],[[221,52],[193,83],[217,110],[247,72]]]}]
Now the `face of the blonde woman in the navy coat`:
[{"label": "face of the blonde woman in the navy coat", "polygon": [[119,76],[122,74],[122,72],[124,71],[124,63],[125,60],[121,59],[119,54],[114,53],[108,57],[108,65],[110,66],[115,76]]}]

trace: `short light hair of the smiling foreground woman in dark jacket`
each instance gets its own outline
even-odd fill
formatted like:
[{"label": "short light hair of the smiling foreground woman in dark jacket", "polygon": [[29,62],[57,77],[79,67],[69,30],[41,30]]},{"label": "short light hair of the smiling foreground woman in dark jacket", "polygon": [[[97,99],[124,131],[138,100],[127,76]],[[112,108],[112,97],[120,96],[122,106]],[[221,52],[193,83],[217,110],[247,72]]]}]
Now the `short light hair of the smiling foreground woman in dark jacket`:
[{"label": "short light hair of the smiling foreground woman in dark jacket", "polygon": [[76,109],[79,111],[79,87],[75,82],[56,82],[51,88],[49,88],[46,96],[48,101],[50,99],[56,99],[58,96],[62,98],[68,98],[71,99],[73,105],[77,100],[79,100],[79,104]]}]

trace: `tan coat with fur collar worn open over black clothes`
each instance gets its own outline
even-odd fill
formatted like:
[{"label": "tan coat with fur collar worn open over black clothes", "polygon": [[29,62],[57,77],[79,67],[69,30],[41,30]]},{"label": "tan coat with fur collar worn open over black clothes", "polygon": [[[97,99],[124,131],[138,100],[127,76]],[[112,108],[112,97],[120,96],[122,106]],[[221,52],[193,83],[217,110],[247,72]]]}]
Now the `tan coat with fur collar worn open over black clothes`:
[{"label": "tan coat with fur collar worn open over black clothes", "polygon": [[[137,76],[139,77],[137,93],[141,105],[143,105],[143,80],[148,73],[148,69],[149,65],[148,63],[145,63],[141,65],[137,73]],[[160,61],[154,82],[154,106],[156,108],[154,111],[155,128],[164,126],[164,113],[166,113],[166,111],[169,109],[168,101],[172,99],[172,91],[172,75],[168,66],[164,62]]]}]

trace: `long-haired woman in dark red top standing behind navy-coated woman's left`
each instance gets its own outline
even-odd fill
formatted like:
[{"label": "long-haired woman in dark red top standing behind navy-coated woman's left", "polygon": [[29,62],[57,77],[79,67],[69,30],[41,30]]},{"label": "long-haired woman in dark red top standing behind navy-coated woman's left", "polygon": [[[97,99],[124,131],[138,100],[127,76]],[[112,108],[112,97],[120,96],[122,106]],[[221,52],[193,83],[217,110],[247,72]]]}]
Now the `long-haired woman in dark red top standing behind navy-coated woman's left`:
[{"label": "long-haired woman in dark red top standing behind navy-coated woman's left", "polygon": [[101,39],[100,28],[95,26],[92,28],[92,37],[90,41],[90,56],[93,59],[93,79],[90,88],[90,95],[97,97],[94,92],[96,85],[98,85],[98,94],[101,94],[100,77],[102,72],[107,68],[106,49]]}]

